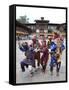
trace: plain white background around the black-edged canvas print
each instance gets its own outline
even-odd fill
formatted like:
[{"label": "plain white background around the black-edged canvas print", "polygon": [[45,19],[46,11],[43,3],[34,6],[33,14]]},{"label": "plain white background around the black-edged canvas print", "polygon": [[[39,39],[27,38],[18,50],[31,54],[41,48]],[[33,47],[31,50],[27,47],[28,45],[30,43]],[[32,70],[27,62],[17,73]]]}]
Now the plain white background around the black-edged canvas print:
[{"label": "plain white background around the black-edged canvas print", "polygon": [[[69,8],[69,0],[1,0],[0,1],[0,90],[68,90],[69,83],[13,87],[8,84],[9,73],[9,5],[32,4]],[[60,14],[60,13],[59,13]],[[69,37],[68,37],[69,38]],[[68,42],[69,43],[69,42]],[[68,67],[69,68],[69,67]]]}]

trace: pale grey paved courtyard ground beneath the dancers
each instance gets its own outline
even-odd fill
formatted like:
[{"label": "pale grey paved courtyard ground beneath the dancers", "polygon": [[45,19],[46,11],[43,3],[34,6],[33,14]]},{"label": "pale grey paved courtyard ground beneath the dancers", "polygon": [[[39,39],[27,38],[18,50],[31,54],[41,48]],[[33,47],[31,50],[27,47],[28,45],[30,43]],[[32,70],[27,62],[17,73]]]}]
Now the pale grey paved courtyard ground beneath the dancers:
[{"label": "pale grey paved courtyard ground beneath the dancers", "polygon": [[[21,41],[22,42],[22,41]],[[30,43],[30,40],[27,40]],[[64,43],[65,44],[65,43]],[[56,68],[51,76],[50,73],[50,58],[48,60],[47,70],[42,73],[41,66],[34,72],[33,77],[30,76],[29,69],[26,68],[25,72],[21,71],[20,62],[25,58],[25,55],[18,48],[18,41],[16,41],[16,83],[31,83],[31,82],[51,82],[51,81],[64,81],[66,79],[66,49],[62,53],[62,63],[59,76],[56,75]],[[38,68],[38,67],[36,67]]]}]

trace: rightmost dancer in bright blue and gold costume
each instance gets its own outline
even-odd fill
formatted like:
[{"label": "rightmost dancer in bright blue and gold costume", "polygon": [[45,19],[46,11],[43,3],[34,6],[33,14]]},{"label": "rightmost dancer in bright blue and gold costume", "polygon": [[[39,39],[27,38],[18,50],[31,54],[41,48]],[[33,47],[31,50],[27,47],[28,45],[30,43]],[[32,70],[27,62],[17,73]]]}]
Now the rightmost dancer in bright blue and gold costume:
[{"label": "rightmost dancer in bright blue and gold costume", "polygon": [[53,74],[53,67],[56,66],[57,76],[59,75],[60,67],[61,67],[61,55],[64,50],[64,45],[60,39],[60,35],[56,34],[53,39],[54,42],[51,44],[51,62],[50,62],[50,71],[51,75]]}]

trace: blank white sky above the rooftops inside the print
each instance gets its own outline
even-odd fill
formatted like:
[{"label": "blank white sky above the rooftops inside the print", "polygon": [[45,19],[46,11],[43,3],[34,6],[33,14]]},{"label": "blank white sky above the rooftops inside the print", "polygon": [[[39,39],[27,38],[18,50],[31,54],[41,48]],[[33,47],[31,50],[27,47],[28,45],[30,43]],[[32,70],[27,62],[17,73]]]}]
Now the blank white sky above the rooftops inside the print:
[{"label": "blank white sky above the rooftops inside the print", "polygon": [[50,23],[65,23],[66,11],[64,9],[48,9],[48,8],[32,8],[32,7],[16,7],[16,19],[19,16],[26,15],[29,18],[30,23],[34,23],[34,20],[44,17],[45,20],[49,20]]}]

